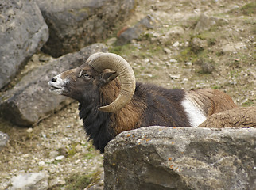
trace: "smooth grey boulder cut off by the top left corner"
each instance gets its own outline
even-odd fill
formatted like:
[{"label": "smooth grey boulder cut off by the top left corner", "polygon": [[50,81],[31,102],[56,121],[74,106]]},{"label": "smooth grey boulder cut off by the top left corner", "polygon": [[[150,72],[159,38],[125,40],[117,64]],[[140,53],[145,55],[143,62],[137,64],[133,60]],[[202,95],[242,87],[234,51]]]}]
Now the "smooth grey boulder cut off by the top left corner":
[{"label": "smooth grey boulder cut off by the top left corner", "polygon": [[48,26],[33,1],[1,1],[0,9],[1,89],[48,40]]}]

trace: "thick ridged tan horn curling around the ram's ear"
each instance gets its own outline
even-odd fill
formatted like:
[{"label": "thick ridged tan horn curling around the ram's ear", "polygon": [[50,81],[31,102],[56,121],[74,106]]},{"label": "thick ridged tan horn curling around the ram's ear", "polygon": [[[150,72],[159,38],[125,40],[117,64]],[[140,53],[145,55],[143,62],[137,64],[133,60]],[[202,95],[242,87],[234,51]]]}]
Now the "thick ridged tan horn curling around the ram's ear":
[{"label": "thick ridged tan horn curling around the ram's ear", "polygon": [[121,81],[118,97],[110,104],[99,108],[102,112],[116,112],[123,108],[133,97],[135,91],[134,70],[121,56],[112,53],[95,53],[88,58],[89,65],[98,72],[114,70]]}]

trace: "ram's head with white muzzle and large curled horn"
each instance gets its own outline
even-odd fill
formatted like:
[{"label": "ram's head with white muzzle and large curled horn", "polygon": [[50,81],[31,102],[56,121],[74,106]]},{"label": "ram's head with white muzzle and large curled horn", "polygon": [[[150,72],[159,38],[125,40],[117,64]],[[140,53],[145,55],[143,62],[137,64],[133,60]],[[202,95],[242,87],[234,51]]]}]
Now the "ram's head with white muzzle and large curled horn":
[{"label": "ram's head with white muzzle and large curled horn", "polygon": [[118,97],[110,105],[99,108],[102,112],[115,112],[131,100],[135,90],[134,71],[119,55],[95,53],[80,67],[56,75],[48,84],[52,93],[81,101],[84,98],[94,97],[95,92],[99,92],[99,88],[117,76],[121,82]]}]

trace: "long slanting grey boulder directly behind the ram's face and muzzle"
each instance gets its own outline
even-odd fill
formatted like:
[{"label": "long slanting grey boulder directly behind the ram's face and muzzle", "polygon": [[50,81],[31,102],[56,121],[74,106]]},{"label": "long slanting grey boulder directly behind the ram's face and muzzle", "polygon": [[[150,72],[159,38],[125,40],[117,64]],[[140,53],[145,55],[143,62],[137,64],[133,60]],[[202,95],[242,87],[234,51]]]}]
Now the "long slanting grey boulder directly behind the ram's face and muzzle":
[{"label": "long slanting grey boulder directly behind the ram's face and muzzle", "polygon": [[14,124],[30,126],[70,103],[71,99],[50,93],[48,81],[64,70],[80,66],[89,55],[98,51],[107,51],[107,47],[103,44],[84,47],[32,70],[13,89],[3,93],[0,100],[2,115]]}]

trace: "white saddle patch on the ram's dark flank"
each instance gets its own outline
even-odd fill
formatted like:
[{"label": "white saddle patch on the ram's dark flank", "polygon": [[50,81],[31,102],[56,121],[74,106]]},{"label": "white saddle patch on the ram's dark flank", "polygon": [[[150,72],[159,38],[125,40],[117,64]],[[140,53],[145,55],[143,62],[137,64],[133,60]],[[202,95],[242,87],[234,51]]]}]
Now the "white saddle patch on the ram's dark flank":
[{"label": "white saddle patch on the ram's dark flank", "polygon": [[206,120],[204,112],[196,106],[196,103],[190,101],[187,95],[184,98],[184,101],[181,102],[181,105],[184,107],[184,111],[187,112],[188,121],[191,124],[191,127],[198,127],[204,120]]}]

